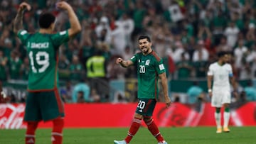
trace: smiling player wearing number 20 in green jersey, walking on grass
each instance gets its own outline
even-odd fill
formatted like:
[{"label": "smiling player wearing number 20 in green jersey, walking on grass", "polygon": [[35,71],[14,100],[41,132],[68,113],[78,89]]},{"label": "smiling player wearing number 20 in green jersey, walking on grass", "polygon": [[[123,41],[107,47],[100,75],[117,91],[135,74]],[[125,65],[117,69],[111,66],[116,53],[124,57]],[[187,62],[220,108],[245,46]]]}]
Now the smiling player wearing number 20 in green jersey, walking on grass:
[{"label": "smiling player wearing number 20 in green jersey, walking on grass", "polygon": [[129,143],[139,130],[143,120],[158,143],[167,144],[152,118],[156,100],[159,99],[157,82],[159,78],[161,79],[166,106],[169,107],[171,104],[171,100],[168,96],[168,85],[163,60],[151,49],[151,40],[146,35],[139,37],[139,49],[142,52],[137,53],[130,60],[123,60],[121,57],[116,60],[116,63],[120,64],[122,67],[129,67],[130,65],[137,67],[139,104],[137,105],[137,110],[134,114],[134,119],[129,128],[127,137],[121,141],[114,140],[114,143]]}]

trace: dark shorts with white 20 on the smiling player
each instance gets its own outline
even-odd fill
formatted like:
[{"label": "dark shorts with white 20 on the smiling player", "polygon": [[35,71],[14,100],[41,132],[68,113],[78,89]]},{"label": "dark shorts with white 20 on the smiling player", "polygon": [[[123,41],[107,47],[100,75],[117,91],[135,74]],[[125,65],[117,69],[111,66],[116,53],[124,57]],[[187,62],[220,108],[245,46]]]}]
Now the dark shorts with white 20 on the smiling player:
[{"label": "dark shorts with white 20 on the smiling player", "polygon": [[142,116],[152,116],[156,106],[156,99],[139,99],[136,113]]}]

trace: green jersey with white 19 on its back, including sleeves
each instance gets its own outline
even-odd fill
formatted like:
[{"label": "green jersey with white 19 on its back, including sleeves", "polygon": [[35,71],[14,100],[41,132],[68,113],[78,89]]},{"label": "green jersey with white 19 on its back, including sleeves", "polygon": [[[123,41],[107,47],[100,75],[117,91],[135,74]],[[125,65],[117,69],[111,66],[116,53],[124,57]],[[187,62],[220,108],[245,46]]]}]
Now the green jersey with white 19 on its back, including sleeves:
[{"label": "green jersey with white 19 on its back, including sleeves", "polygon": [[58,48],[69,40],[68,31],[55,34],[18,32],[26,45],[30,70],[28,91],[52,90],[58,87]]}]

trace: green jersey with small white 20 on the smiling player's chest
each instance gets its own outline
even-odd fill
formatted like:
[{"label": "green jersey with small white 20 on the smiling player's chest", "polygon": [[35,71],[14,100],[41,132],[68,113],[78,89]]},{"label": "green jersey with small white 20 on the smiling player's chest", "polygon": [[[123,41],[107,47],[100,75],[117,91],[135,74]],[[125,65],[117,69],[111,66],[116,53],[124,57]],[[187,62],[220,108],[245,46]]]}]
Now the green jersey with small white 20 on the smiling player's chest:
[{"label": "green jersey with small white 20 on the smiling player's chest", "polygon": [[159,74],[166,72],[161,57],[154,51],[148,55],[143,55],[142,52],[139,52],[131,60],[137,66],[138,98],[158,99]]}]

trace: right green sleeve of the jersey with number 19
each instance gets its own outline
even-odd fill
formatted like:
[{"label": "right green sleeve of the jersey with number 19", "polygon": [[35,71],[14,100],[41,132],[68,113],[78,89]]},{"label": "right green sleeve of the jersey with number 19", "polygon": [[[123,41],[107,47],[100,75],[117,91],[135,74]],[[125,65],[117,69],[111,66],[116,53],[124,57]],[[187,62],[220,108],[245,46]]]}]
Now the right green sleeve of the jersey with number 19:
[{"label": "right green sleeve of the jersey with number 19", "polygon": [[60,46],[65,42],[68,42],[69,36],[68,36],[68,30],[66,31],[60,31],[52,36],[53,44],[55,46]]}]

